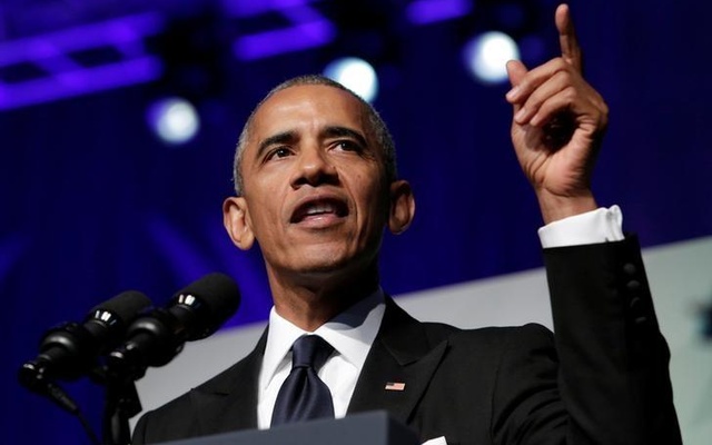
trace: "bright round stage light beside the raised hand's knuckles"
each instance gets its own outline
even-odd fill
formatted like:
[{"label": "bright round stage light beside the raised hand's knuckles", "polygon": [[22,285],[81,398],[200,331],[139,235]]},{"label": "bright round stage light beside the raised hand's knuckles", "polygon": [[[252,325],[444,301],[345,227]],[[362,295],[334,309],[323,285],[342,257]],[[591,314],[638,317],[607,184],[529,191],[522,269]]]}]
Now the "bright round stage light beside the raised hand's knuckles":
[{"label": "bright round stage light beside the raised hand's knuckles", "polygon": [[465,66],[484,83],[507,80],[506,62],[520,58],[516,42],[504,32],[490,31],[473,38],[463,49]]}]

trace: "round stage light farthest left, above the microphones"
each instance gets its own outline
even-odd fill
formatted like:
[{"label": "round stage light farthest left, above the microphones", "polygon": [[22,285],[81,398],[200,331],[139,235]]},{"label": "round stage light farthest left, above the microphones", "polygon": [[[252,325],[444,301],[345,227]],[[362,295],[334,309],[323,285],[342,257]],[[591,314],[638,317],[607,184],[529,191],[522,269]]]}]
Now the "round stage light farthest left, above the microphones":
[{"label": "round stage light farthest left, above the microphones", "polygon": [[148,125],[166,144],[181,145],[191,140],[200,129],[196,108],[178,97],[154,103],[147,112]]}]

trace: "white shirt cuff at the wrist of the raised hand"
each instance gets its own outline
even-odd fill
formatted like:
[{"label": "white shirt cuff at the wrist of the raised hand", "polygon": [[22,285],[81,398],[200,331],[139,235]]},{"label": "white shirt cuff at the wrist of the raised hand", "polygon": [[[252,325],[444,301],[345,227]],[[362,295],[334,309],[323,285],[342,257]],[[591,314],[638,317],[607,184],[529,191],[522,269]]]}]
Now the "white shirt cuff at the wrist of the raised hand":
[{"label": "white shirt cuff at the wrist of the raised hand", "polygon": [[620,241],[623,238],[623,214],[619,206],[560,219],[538,229],[538,239],[545,249]]}]

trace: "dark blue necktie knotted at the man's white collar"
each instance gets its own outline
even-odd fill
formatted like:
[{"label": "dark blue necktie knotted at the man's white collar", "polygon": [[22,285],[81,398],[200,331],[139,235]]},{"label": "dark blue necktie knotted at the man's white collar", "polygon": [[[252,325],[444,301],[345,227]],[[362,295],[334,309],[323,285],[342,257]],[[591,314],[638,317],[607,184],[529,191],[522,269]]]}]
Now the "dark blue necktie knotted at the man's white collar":
[{"label": "dark blue necktie knotted at the man's white collar", "polygon": [[291,345],[291,372],[279,388],[271,426],[334,417],[332,392],[317,372],[334,347],[318,335],[304,335]]}]

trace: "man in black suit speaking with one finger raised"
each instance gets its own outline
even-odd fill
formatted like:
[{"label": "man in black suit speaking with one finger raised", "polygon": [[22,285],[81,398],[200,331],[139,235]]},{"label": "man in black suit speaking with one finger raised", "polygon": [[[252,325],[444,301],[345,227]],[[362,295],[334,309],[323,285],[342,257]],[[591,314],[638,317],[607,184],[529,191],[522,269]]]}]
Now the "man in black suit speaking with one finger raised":
[{"label": "man in black suit speaking with one finger raised", "polygon": [[411,187],[367,103],[327,79],[297,78],[250,116],[236,154],[238,196],[224,205],[237,247],[257,241],[264,254],[269,329],[244,360],[145,415],[135,444],[269,427],[290,347],[305,334],[334,347],[319,377],[336,417],[387,409],[423,441],[451,444],[681,442],[640,248],[589,185],[607,109],[581,76],[566,6],[555,21],[562,56],[531,71],[511,61],[506,98],[546,224],[556,347],[535,325],[422,324],[384,294],[383,229],[408,227]]}]

